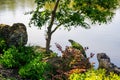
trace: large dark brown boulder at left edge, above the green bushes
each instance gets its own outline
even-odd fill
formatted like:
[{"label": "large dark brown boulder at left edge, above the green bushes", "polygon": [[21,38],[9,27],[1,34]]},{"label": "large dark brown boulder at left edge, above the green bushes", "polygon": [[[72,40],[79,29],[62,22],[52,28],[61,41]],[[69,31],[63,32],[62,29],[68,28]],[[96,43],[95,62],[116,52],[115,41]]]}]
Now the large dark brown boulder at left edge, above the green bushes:
[{"label": "large dark brown boulder at left edge, above the green bushes", "polygon": [[28,40],[26,26],[23,23],[14,23],[12,26],[0,24],[0,38],[5,40],[8,47],[24,46]]}]

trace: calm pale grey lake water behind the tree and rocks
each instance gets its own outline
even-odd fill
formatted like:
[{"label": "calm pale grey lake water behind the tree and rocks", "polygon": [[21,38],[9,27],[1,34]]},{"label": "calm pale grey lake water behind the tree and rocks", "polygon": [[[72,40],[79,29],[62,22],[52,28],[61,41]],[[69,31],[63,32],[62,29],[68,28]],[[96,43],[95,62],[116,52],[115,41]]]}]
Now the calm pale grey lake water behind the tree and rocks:
[{"label": "calm pale grey lake water behind the tree and rocks", "polygon": [[[45,47],[45,28],[41,30],[37,27],[29,27],[28,23],[31,18],[30,15],[24,15],[35,9],[34,0],[0,0],[0,24],[24,23],[27,26],[28,45],[39,45]],[[47,25],[46,25],[47,26]],[[84,47],[88,46],[87,55],[92,53],[107,53],[111,61],[120,66],[120,10],[116,10],[111,23],[99,25],[91,25],[91,29],[73,28],[71,31],[64,29],[57,30],[51,41],[51,49],[61,53],[57,50],[54,43],[59,43],[63,46],[69,46],[68,39],[73,39],[81,43]],[[98,66],[96,55],[91,59]]]}]

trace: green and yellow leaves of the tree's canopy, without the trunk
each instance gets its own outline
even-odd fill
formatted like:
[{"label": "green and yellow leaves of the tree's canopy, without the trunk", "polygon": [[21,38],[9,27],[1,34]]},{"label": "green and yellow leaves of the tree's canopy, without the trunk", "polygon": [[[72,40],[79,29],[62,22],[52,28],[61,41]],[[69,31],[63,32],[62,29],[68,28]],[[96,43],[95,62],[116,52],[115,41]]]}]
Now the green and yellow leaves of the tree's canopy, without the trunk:
[{"label": "green and yellow leaves of the tree's canopy, without the trunk", "polygon": [[[44,16],[51,17],[56,2],[56,0],[36,0],[39,10],[36,10],[34,13],[40,13],[42,9],[42,11],[50,12],[50,14],[44,14]],[[86,24],[86,19],[89,19],[94,24],[107,23],[108,21],[111,21],[114,10],[119,6],[119,2],[119,0],[60,0],[55,13],[54,24],[57,22],[57,25],[60,23],[69,28],[70,26],[86,27],[83,25]],[[33,23],[38,23],[38,26],[43,26],[45,23],[49,23],[51,19],[43,19],[41,15],[42,14],[37,14],[32,18]],[[40,23],[41,21],[43,23]]]}]

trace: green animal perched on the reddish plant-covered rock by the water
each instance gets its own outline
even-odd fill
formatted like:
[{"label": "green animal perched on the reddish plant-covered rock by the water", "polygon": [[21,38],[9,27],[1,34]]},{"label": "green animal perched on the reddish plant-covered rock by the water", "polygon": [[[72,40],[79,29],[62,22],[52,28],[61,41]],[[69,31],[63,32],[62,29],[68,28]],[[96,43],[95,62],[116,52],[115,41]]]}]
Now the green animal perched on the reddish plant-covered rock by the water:
[{"label": "green animal perched on the reddish plant-covered rock by the water", "polygon": [[84,57],[87,58],[86,52],[85,52],[85,50],[84,50],[84,48],[82,47],[81,44],[79,44],[79,43],[77,43],[77,42],[75,42],[71,39],[69,39],[68,41],[71,43],[73,48],[79,49],[82,52],[82,54],[84,55]]}]

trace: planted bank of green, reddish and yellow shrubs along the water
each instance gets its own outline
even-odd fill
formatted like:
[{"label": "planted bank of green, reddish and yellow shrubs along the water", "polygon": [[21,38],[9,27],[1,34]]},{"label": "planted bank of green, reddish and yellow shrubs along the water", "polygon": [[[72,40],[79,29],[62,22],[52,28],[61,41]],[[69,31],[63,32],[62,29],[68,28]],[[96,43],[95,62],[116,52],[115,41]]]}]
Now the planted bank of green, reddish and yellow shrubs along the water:
[{"label": "planted bank of green, reddish and yellow shrubs along the water", "polygon": [[[74,50],[73,55],[70,51]],[[11,52],[13,51],[13,52]],[[78,50],[68,47],[63,51],[63,57],[52,52],[46,55],[45,49],[39,46],[11,47],[0,56],[1,80],[119,80],[119,74],[107,69],[88,67],[87,58],[82,57]],[[73,51],[72,51],[73,52]],[[79,54],[78,54],[79,53]],[[18,55],[19,54],[19,55]],[[12,57],[10,57],[10,55]],[[9,57],[7,57],[9,56]],[[79,58],[82,57],[82,58]],[[103,58],[103,57],[102,57]],[[2,59],[2,60],[1,60]],[[82,61],[79,62],[79,59]],[[5,61],[5,62],[4,62]],[[7,61],[7,62],[6,62]],[[108,61],[108,60],[107,60]],[[47,62],[47,63],[46,63]],[[81,65],[78,65],[78,62]],[[48,64],[49,63],[49,64]],[[69,65],[68,65],[69,64]],[[87,66],[85,66],[87,64]],[[88,76],[90,75],[90,76]],[[107,76],[106,76],[107,75]]]}]

